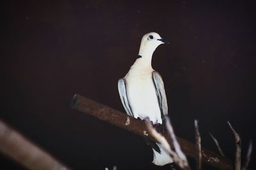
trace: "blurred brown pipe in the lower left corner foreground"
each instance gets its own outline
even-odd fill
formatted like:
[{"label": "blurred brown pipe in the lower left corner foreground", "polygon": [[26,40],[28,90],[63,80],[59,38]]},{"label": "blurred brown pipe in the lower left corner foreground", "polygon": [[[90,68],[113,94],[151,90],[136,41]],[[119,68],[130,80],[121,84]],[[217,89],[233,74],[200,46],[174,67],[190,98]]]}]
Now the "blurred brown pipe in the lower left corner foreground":
[{"label": "blurred brown pipe in the lower left corner foreground", "polygon": [[28,169],[67,170],[63,164],[0,120],[0,151]]}]

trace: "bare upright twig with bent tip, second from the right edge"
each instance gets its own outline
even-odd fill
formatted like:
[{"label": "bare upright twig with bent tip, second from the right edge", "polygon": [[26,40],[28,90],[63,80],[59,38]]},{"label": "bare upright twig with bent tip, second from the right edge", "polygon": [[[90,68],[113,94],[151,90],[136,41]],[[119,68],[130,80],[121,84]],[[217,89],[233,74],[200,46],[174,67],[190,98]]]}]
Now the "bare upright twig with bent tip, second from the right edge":
[{"label": "bare upright twig with bent tip, second from the right edge", "polygon": [[236,160],[235,160],[235,169],[236,170],[241,170],[241,138],[239,134],[237,134],[236,130],[232,127],[230,122],[227,122],[229,127],[231,128],[233,134],[235,135],[235,140],[236,140]]}]

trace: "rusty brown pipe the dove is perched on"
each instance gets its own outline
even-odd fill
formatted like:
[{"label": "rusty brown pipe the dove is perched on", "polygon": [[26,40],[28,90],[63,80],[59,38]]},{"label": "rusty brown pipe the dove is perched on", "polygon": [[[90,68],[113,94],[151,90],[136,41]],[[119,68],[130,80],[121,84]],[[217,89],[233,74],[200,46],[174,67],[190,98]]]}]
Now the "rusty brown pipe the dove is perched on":
[{"label": "rusty brown pipe the dove is perched on", "polygon": [[[150,136],[147,133],[147,127],[143,121],[137,120],[132,116],[128,116],[123,112],[120,112],[120,111],[117,111],[116,109],[108,107],[107,105],[100,104],[99,102],[95,102],[90,98],[86,98],[76,94],[72,98],[71,106],[77,111],[90,114],[95,118],[98,118],[103,121],[107,121],[108,123],[116,125],[117,127],[120,127],[120,128],[124,128],[125,130],[133,132],[134,134],[138,134],[141,136],[147,135],[148,137],[156,141],[154,137]],[[163,135],[164,137],[166,137],[166,139],[171,144],[171,146],[173,146],[172,143],[170,142],[171,140],[169,135],[168,134],[163,134]],[[197,157],[198,152],[196,150],[196,145],[194,143],[190,143],[189,141],[182,139],[180,137],[177,137],[177,139],[180,143],[182,150],[186,155],[193,158]],[[209,164],[218,169],[228,169],[228,170],[233,169],[233,165],[230,160],[228,160],[225,157],[222,157],[221,155],[214,153],[213,151],[209,151],[204,148],[202,148],[202,160],[206,164]]]}]

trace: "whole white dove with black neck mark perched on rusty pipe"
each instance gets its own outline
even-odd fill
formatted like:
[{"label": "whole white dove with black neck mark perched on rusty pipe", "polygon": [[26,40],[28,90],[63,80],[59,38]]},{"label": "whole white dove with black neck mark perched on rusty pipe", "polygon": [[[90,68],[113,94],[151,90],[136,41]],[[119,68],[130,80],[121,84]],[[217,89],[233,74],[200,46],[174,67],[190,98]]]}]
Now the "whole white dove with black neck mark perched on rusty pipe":
[{"label": "whole white dove with black neck mark perched on rusty pipe", "polygon": [[[154,125],[164,125],[168,115],[168,105],[161,75],[152,68],[152,55],[161,44],[169,44],[158,33],[147,33],[141,39],[138,58],[124,78],[118,80],[118,92],[129,116],[145,120],[148,118]],[[172,158],[159,143],[145,138],[153,149],[156,166],[173,162]]]}]

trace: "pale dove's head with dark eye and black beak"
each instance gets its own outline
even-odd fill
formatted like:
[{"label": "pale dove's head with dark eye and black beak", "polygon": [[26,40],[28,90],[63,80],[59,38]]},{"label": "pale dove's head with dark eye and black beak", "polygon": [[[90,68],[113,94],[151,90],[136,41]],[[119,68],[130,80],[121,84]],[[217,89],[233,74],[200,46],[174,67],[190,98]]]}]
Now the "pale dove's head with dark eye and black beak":
[{"label": "pale dove's head with dark eye and black beak", "polygon": [[169,42],[163,40],[157,33],[152,32],[145,34],[141,40],[139,55],[142,57],[145,55],[152,55],[158,45],[162,43],[169,44]]}]

